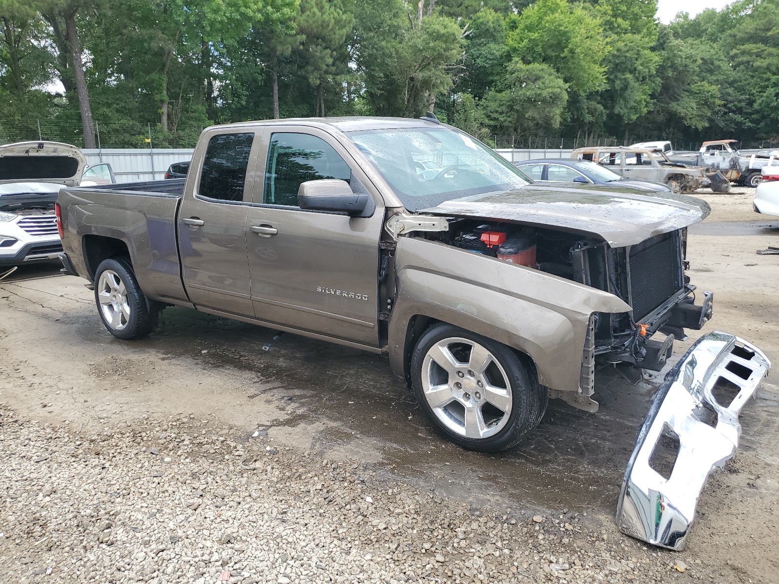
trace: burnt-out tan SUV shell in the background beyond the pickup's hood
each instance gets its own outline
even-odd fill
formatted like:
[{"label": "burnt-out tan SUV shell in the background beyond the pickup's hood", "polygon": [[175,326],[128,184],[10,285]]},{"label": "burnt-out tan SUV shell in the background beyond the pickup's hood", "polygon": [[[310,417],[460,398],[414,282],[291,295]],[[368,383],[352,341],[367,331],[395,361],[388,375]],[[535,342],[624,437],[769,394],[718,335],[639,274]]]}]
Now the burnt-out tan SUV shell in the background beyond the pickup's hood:
[{"label": "burnt-out tan SUV shell in the background beyond the pickup's hood", "polygon": [[573,150],[571,158],[590,160],[625,178],[661,182],[673,192],[695,192],[701,187],[711,187],[714,192],[730,190],[730,183],[721,175],[709,177],[701,168],[671,162],[661,150],[591,146]]}]

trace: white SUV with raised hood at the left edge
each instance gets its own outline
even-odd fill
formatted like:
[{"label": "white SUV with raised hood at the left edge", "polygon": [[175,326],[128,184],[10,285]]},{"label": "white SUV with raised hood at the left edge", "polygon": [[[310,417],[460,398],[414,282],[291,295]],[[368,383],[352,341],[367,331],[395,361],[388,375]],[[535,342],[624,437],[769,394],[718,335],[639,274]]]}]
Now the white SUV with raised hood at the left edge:
[{"label": "white SUV with raised hood at the left edge", "polygon": [[0,267],[59,259],[57,194],[78,185],[85,167],[81,150],[69,144],[0,146]]}]

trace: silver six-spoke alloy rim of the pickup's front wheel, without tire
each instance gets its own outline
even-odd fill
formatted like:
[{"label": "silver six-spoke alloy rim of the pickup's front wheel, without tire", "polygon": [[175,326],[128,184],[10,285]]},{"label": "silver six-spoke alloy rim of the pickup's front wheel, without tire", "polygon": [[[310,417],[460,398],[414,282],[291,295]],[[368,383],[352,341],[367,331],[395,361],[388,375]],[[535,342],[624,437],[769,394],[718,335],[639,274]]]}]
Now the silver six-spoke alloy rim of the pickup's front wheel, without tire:
[{"label": "silver six-spoke alloy rim of the pickup's front wheel, without tire", "polygon": [[449,338],[422,362],[422,389],[435,416],[466,438],[489,438],[511,414],[511,384],[498,360],[479,343]]}]

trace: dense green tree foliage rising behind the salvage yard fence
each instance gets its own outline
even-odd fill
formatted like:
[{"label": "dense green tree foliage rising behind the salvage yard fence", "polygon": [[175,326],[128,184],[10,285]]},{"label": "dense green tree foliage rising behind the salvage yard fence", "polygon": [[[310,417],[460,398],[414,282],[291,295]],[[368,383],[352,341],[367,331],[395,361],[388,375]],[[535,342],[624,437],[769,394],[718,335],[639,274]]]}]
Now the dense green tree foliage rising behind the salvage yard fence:
[{"label": "dense green tree foliage rising behind the salvage yard fence", "polygon": [[160,147],[189,144],[205,125],[273,118],[274,95],[280,117],[434,108],[485,141],[779,139],[779,0],[670,25],[656,11],[657,0],[0,0],[0,134],[37,137],[41,120],[41,134],[80,143],[75,14],[104,147],[143,146],[150,128]]}]

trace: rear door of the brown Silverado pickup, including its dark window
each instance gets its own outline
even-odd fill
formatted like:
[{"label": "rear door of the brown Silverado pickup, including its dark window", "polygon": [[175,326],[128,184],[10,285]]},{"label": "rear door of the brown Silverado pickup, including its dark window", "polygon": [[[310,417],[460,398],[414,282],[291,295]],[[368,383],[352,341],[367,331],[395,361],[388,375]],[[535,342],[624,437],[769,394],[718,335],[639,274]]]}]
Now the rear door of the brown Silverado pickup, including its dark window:
[{"label": "rear door of the brown Silverado pickup, including its dark window", "polygon": [[[192,167],[178,213],[178,248],[189,299],[199,308],[254,316],[246,257],[258,128],[219,128]],[[205,137],[204,137],[205,138]],[[205,142],[205,140],[203,140]],[[196,152],[193,160],[199,160]],[[193,184],[196,183],[196,184]]]}]

